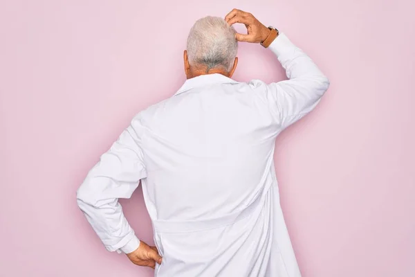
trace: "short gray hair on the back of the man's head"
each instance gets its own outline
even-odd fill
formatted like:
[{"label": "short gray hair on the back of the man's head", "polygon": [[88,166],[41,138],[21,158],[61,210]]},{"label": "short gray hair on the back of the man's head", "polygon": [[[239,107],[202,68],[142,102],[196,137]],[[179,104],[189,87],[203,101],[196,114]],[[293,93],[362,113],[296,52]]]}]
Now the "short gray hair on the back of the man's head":
[{"label": "short gray hair on the back of the man's head", "polygon": [[229,72],[237,56],[235,29],[221,17],[196,21],[187,37],[187,57],[192,66],[223,69]]}]

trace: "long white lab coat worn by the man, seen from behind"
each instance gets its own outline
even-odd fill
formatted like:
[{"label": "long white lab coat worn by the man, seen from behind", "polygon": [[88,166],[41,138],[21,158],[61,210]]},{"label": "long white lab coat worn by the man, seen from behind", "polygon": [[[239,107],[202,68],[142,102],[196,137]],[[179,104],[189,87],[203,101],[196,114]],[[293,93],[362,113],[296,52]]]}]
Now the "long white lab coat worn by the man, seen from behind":
[{"label": "long white lab coat worn by the man, seen from behind", "polygon": [[279,204],[275,138],[317,105],[329,80],[286,35],[269,49],[289,80],[187,80],[102,155],[77,202],[109,251],[140,243],[118,199],[141,180],[163,256],[155,276],[300,276]]}]

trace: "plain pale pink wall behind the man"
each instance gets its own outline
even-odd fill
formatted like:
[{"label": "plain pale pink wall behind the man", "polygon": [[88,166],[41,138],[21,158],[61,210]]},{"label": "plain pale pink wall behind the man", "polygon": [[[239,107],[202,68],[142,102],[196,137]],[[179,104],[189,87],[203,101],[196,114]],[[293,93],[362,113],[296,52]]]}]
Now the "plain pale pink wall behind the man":
[{"label": "plain pale pink wall behind the man", "polygon": [[[331,80],[275,154],[304,277],[415,276],[411,2],[0,1],[0,276],[152,276],[104,249],[75,190],[134,114],[181,86],[194,21],[234,7],[277,26]],[[234,78],[284,72],[240,44]],[[122,204],[151,243],[140,189]]]}]

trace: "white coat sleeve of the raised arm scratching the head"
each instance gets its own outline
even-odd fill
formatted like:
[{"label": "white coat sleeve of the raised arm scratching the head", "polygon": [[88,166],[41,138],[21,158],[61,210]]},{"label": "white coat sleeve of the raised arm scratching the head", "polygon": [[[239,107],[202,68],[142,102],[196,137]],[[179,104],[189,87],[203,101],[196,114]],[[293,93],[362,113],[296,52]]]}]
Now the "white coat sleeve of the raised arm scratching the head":
[{"label": "white coat sleeve of the raised arm scratching the head", "polygon": [[329,79],[301,49],[281,33],[270,46],[288,80],[268,84],[267,102],[282,128],[308,114],[329,88]]}]

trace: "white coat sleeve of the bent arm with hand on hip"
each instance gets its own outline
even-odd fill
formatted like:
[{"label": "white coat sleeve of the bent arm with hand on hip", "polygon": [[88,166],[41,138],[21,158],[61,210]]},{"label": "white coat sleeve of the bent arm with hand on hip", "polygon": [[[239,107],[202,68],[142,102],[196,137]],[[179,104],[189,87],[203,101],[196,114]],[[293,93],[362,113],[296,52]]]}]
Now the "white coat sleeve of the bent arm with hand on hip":
[{"label": "white coat sleeve of the bent arm with hand on hip", "polygon": [[108,251],[130,253],[140,245],[118,203],[119,198],[130,198],[147,176],[138,129],[136,116],[77,190],[78,206]]}]

